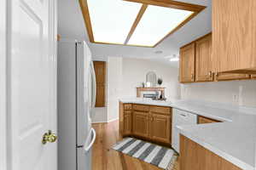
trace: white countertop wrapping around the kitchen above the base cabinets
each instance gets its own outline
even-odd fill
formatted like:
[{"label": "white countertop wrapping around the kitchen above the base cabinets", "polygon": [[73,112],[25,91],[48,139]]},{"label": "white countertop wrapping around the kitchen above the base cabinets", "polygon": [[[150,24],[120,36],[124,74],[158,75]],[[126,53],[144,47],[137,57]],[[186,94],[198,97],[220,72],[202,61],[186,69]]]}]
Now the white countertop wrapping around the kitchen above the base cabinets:
[{"label": "white countertop wrapping around the kitchen above the base cabinets", "polygon": [[181,126],[181,133],[244,170],[255,170],[256,108],[185,100],[120,99],[123,103],[162,105],[216,119],[218,123]]}]

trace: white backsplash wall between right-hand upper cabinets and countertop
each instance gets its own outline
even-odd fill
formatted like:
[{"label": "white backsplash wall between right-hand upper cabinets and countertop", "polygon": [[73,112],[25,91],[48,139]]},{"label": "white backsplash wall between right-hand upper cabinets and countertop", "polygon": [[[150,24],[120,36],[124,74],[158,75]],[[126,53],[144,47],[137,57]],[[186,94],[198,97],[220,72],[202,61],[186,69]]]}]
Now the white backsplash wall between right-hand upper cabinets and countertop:
[{"label": "white backsplash wall between right-hand upper cabinets and countertop", "polygon": [[183,84],[181,86],[181,98],[255,107],[256,81],[244,80]]}]

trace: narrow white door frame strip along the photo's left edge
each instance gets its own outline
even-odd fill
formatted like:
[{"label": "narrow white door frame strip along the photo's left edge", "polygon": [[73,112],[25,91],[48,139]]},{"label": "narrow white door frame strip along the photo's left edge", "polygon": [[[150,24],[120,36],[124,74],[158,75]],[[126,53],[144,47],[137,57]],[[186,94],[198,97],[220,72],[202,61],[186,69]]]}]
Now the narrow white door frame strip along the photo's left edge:
[{"label": "narrow white door frame strip along the photo's left edge", "polygon": [[7,126],[7,86],[6,86],[6,44],[7,44],[7,0],[0,1],[0,169],[7,169],[7,137],[6,137],[6,126]]}]

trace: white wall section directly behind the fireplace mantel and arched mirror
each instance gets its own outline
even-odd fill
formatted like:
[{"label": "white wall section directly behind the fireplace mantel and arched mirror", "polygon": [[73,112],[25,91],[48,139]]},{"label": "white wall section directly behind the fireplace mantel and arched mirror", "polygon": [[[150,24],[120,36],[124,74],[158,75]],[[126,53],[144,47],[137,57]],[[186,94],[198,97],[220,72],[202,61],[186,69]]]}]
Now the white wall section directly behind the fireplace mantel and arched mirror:
[{"label": "white wall section directly behind the fireplace mantel and arched mirror", "polygon": [[178,69],[170,65],[148,59],[123,59],[123,81],[121,98],[137,96],[137,87],[146,82],[148,71],[154,71],[157,77],[163,79],[161,87],[166,88],[167,99],[179,99],[180,85],[178,82]]}]

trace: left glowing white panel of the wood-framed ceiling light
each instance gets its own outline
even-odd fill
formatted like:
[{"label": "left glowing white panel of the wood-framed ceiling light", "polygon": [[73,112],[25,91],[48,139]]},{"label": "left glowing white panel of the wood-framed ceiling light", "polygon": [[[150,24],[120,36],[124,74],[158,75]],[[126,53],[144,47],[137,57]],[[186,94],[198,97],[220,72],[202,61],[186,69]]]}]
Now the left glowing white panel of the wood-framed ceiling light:
[{"label": "left glowing white panel of the wood-framed ceiling light", "polygon": [[124,44],[142,6],[122,0],[88,0],[95,42]]}]

